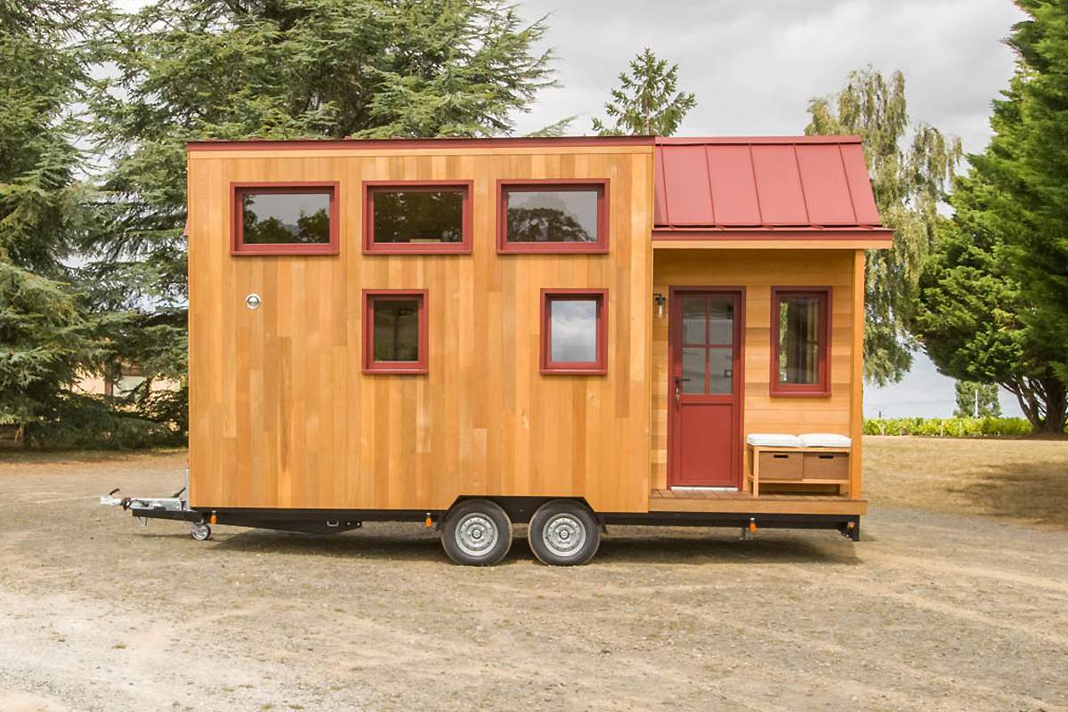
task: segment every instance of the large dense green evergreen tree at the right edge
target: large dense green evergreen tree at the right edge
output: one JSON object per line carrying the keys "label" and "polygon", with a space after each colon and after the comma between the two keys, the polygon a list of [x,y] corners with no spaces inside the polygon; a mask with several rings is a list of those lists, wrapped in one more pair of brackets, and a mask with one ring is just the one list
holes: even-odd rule
{"label": "large dense green evergreen tree at the right edge", "polygon": [[1068,420],[1068,7],[1021,1],[1018,70],[925,269],[917,330],[943,373],[996,381],[1036,431]]}

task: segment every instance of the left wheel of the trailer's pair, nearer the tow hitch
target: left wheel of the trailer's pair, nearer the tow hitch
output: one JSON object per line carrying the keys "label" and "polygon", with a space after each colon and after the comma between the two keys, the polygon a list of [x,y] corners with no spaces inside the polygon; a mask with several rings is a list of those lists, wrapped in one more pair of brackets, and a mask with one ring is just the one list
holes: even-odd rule
{"label": "left wheel of the trailer's pair, nearer the tow hitch", "polygon": [[461,566],[492,566],[512,549],[512,520],[489,500],[465,500],[445,516],[441,545]]}

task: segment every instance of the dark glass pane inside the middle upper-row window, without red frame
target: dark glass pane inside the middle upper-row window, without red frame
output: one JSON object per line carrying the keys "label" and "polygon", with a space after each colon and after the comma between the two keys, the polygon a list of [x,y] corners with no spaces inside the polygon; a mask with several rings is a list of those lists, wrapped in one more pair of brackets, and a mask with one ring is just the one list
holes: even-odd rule
{"label": "dark glass pane inside the middle upper-row window, without red frame", "polygon": [[375,243],[464,240],[462,190],[375,190],[372,195]]}

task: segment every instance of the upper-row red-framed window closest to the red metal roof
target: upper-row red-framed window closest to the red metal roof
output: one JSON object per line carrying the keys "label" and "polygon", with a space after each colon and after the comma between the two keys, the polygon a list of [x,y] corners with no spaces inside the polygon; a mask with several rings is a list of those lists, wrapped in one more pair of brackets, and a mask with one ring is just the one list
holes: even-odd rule
{"label": "upper-row red-framed window closest to the red metal roof", "polygon": [[498,252],[608,252],[608,180],[498,181]]}

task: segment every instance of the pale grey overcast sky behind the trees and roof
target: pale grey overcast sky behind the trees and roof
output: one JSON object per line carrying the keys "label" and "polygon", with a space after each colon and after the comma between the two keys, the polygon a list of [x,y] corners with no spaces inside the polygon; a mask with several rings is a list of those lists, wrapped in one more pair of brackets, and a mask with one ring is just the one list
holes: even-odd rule
{"label": "pale grey overcast sky behind the trees and roof", "polygon": [[[572,132],[588,132],[616,76],[647,46],[678,63],[680,89],[697,95],[682,136],[801,133],[808,99],[870,64],[900,69],[912,120],[959,136],[971,153],[986,145],[990,101],[1012,74],[1001,41],[1023,18],[1009,0],[527,0],[521,12],[548,15],[561,86],[519,118],[519,133],[572,114]],[[1021,414],[1002,395],[1005,413]],[[953,409],[953,381],[923,353],[902,383],[869,386],[864,402],[868,416]]]}

